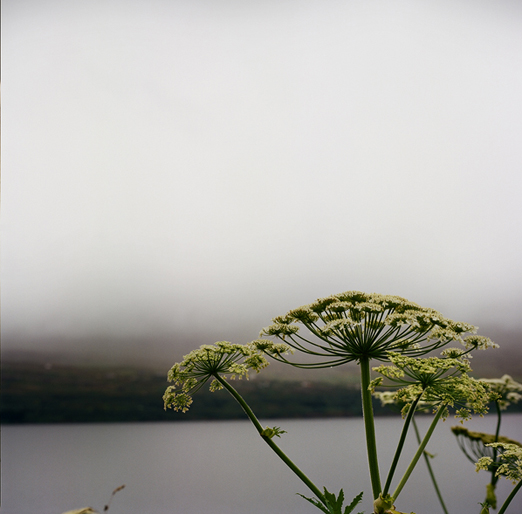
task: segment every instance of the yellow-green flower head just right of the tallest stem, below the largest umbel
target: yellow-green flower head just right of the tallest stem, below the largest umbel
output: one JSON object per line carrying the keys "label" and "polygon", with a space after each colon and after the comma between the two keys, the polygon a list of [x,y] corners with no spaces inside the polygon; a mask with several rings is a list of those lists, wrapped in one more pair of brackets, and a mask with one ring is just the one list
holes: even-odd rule
{"label": "yellow-green flower head just right of the tallest stem, below the largest umbel", "polygon": [[[467,360],[413,358],[396,352],[389,352],[388,358],[392,365],[382,365],[374,370],[401,387],[393,400],[404,406],[403,414],[418,398],[422,398],[424,406],[443,406],[446,409],[443,417],[448,416],[447,407],[455,406],[460,407],[456,416],[461,419],[469,419],[471,410],[481,415],[487,412],[491,400],[489,387],[468,375],[471,368]],[[381,383],[382,378],[376,379],[372,387]]]}

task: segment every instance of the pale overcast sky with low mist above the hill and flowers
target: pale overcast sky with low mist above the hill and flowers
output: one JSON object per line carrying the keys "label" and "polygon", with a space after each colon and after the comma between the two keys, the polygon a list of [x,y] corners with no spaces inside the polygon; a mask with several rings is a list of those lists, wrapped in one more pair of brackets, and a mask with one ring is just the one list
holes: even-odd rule
{"label": "pale overcast sky with low mist above the hill and flowers", "polygon": [[2,22],[4,350],[247,342],[351,289],[522,331],[521,2],[4,0]]}

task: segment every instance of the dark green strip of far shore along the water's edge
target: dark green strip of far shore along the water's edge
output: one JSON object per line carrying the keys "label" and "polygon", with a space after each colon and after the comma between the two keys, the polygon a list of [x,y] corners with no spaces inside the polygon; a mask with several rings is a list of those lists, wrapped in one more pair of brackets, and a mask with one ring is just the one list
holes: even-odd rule
{"label": "dark green strip of far shore along the water's edge", "polygon": [[[165,411],[165,374],[135,368],[80,367],[2,362],[2,424],[99,423],[244,419],[225,391],[203,387],[185,413]],[[305,380],[236,381],[259,418],[361,416],[353,383]],[[522,412],[514,405],[511,412]],[[518,407],[518,408],[517,408]],[[374,402],[377,416],[394,414]]]}

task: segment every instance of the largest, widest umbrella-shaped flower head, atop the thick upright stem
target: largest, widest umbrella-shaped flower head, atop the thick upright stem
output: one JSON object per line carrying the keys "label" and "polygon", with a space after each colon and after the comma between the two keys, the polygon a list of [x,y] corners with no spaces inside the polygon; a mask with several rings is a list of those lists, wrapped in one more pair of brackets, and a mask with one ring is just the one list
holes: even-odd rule
{"label": "largest, widest umbrella-shaped flower head, atop the thick upright stem", "polygon": [[[321,298],[274,318],[261,337],[276,337],[294,350],[321,358],[293,363],[303,368],[338,366],[361,359],[388,360],[388,352],[425,355],[451,342],[468,351],[495,346],[474,335],[476,327],[445,318],[399,296],[347,291]],[[302,330],[302,329],[305,330]]]}

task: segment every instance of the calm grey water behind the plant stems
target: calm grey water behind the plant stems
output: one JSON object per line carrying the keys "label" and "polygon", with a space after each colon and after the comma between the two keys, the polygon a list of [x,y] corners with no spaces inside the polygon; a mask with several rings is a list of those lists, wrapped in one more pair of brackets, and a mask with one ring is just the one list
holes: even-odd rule
{"label": "calm grey water behind the plant stems", "polygon": [[[342,487],[349,499],[364,491],[366,501],[355,512],[372,511],[362,419],[264,424],[274,423],[288,432],[277,442],[318,486],[335,492]],[[376,423],[385,475],[402,422],[378,418]],[[421,430],[427,424],[420,418]],[[440,423],[428,450],[437,454],[433,466],[450,514],[478,514],[488,475],[477,474],[461,454],[450,432],[454,424],[452,419]],[[492,432],[495,418],[466,426]],[[522,415],[505,415],[502,432],[522,440]],[[411,441],[398,473],[414,446]],[[397,508],[441,513],[428,480],[421,461]],[[85,506],[102,512],[122,484],[126,488],[114,497],[110,514],[319,513],[295,494],[311,496],[248,421],[2,427],[2,514],[61,514]],[[511,487],[502,479],[499,498]],[[522,498],[514,503],[509,514],[520,514]]]}

